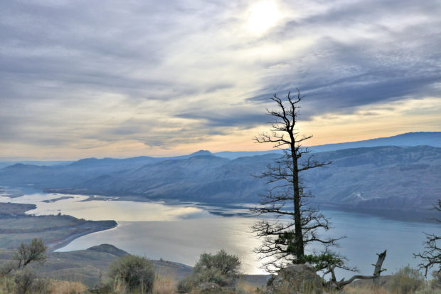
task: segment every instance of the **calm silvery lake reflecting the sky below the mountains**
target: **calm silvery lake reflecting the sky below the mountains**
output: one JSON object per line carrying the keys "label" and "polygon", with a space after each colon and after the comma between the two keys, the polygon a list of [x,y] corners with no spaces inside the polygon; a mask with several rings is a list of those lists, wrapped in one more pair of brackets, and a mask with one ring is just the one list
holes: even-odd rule
{"label": "calm silvery lake reflecting the sky below the mountains", "polygon": [[[203,252],[215,253],[224,248],[240,256],[244,273],[265,273],[253,253],[260,244],[250,232],[257,220],[246,214],[245,209],[225,209],[201,206],[196,203],[165,203],[161,201],[134,202],[116,201],[95,196],[66,195],[26,192],[25,195],[9,198],[0,196],[1,202],[36,204],[28,214],[68,214],[77,218],[95,221],[113,219],[118,226],[107,231],[91,233],[75,239],[58,251],[73,251],[89,248],[101,243],[110,243],[129,253],[148,258],[164,258],[193,266]],[[55,201],[47,201],[47,200]],[[46,201],[46,202],[45,202]],[[377,216],[350,212],[322,210],[331,217],[334,229],[327,234],[332,237],[346,236],[337,248],[349,258],[351,266],[357,266],[362,274],[371,275],[376,262],[376,253],[388,250],[386,274],[418,260],[412,253],[423,249],[427,233],[441,234],[438,224],[405,222],[383,219]],[[233,216],[223,216],[228,214]],[[339,277],[351,273],[339,272]]]}

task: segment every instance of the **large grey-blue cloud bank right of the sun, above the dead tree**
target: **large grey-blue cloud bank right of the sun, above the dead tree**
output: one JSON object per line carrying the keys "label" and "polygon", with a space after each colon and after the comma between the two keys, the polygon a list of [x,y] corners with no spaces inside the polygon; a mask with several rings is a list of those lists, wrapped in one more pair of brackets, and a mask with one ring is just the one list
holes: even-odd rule
{"label": "large grey-blue cloud bank right of the sun, above the dead tree", "polygon": [[[441,6],[436,1],[351,1],[329,7],[278,28],[284,42],[313,31],[310,53],[267,80],[251,100],[262,100],[293,85],[316,105],[309,112],[354,110],[354,107],[408,97],[439,95],[441,78]],[[275,86],[276,85],[276,86]]]}

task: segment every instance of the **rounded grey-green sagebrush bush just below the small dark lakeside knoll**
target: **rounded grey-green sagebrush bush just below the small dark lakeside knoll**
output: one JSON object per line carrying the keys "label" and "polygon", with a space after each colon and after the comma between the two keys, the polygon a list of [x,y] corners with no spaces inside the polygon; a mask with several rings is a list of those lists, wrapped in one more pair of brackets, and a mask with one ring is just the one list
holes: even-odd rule
{"label": "rounded grey-green sagebrush bush just below the small dark lakeside knoll", "polygon": [[108,275],[112,283],[122,284],[127,290],[152,293],[154,268],[148,258],[122,256],[110,265]]}

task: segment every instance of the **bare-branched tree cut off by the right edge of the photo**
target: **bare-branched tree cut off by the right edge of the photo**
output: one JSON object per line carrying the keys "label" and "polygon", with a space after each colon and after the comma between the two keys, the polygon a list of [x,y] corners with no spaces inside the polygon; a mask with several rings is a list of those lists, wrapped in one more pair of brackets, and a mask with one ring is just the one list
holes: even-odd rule
{"label": "bare-branched tree cut off by the right edge of the photo", "polygon": [[[441,211],[441,199],[433,206],[433,209]],[[440,219],[435,218],[435,221],[441,223]],[[422,260],[418,268],[424,268],[425,277],[427,278],[427,271],[433,266],[438,266],[437,272],[441,273],[441,247],[437,244],[437,241],[441,240],[441,236],[437,236],[434,233],[425,233],[425,235],[425,250],[420,253],[414,253],[413,256]]]}

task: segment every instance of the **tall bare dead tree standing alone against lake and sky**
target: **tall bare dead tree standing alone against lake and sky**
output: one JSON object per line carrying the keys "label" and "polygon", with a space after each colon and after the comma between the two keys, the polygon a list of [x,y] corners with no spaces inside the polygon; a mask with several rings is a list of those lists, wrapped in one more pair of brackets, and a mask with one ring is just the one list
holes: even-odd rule
{"label": "tall bare dead tree standing alone against lake and sky", "polygon": [[[319,229],[330,229],[329,219],[319,209],[309,206],[307,199],[313,196],[307,193],[300,177],[302,172],[331,163],[318,162],[307,147],[302,147],[302,142],[312,137],[300,136],[297,131],[302,96],[297,89],[295,96],[288,93],[282,99],[274,95],[270,100],[277,105],[277,110],[267,109],[273,119],[272,129],[255,137],[255,141],[272,143],[273,147],[283,150],[283,156],[257,176],[266,179],[270,189],[261,195],[260,206],[251,210],[257,215],[275,216],[274,221],[262,219],[253,226],[257,236],[263,238],[262,246],[255,252],[264,261],[263,268],[273,273],[289,263],[305,263],[308,257],[310,259],[311,256],[305,255],[308,244],[321,243],[328,248],[336,245],[338,239],[319,236]],[[335,262],[332,256],[330,261],[343,266],[341,260]]]}

